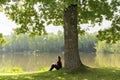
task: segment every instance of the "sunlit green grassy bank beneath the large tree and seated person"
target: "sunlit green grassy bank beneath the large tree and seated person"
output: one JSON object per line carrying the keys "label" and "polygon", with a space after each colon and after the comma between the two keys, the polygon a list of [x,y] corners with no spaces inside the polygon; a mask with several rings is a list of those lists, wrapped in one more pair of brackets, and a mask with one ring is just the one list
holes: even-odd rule
{"label": "sunlit green grassy bank beneath the large tree and seated person", "polygon": [[46,71],[0,75],[0,80],[120,80],[120,69],[90,68],[85,71]]}

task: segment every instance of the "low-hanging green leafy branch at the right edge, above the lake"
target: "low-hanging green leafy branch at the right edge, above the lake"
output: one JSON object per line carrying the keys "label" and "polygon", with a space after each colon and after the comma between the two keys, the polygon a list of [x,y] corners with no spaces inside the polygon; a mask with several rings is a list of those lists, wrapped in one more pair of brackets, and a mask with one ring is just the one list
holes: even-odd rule
{"label": "low-hanging green leafy branch at the right edge, above the lake", "polygon": [[99,31],[99,40],[106,40],[107,43],[116,43],[120,40],[120,14],[116,14],[109,29]]}

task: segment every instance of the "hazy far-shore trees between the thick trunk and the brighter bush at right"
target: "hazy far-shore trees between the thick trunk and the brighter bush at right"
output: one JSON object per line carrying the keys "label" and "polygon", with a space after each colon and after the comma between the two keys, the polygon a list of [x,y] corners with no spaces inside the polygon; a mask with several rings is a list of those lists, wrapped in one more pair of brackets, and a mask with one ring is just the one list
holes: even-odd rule
{"label": "hazy far-shore trees between the thick trunk and the brighter bush at right", "polygon": [[78,46],[79,52],[83,53],[95,53],[95,46],[98,44],[98,39],[96,38],[96,34],[84,34],[79,35]]}

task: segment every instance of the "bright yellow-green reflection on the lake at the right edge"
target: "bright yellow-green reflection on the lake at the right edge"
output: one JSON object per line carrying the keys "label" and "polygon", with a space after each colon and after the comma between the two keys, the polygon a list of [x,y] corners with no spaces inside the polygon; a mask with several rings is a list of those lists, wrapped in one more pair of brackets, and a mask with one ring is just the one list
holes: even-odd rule
{"label": "bright yellow-green reflection on the lake at the right edge", "polygon": [[120,54],[102,54],[96,56],[96,63],[99,67],[120,68]]}

